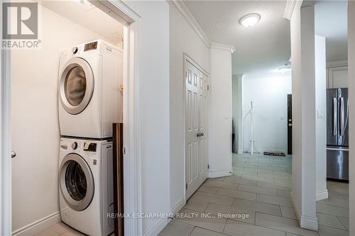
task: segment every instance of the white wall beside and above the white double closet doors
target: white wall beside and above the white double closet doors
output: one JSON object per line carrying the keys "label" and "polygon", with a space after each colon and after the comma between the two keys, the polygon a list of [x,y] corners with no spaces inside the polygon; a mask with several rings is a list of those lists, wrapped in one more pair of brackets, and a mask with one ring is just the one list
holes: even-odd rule
{"label": "white wall beside and above the white double closet doors", "polygon": [[170,209],[184,198],[184,60],[187,53],[209,72],[209,49],[170,4]]}

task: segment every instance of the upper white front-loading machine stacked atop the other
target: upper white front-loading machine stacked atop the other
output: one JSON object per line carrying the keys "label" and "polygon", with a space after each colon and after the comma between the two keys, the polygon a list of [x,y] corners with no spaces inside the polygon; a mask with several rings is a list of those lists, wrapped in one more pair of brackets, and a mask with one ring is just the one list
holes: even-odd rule
{"label": "upper white front-loading machine stacked atop the other", "polygon": [[62,52],[58,84],[60,135],[112,137],[122,122],[123,52],[103,40]]}

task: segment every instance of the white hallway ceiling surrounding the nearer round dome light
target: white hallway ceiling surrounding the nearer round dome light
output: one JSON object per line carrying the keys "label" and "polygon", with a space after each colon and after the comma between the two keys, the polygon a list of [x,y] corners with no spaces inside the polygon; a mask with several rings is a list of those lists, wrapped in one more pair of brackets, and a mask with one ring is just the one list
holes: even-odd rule
{"label": "white hallway ceiling surrounding the nearer round dome light", "polygon": [[[209,40],[233,45],[233,74],[269,74],[290,59],[290,22],[286,1],[184,1]],[[261,20],[244,28],[239,19],[258,13]]]}

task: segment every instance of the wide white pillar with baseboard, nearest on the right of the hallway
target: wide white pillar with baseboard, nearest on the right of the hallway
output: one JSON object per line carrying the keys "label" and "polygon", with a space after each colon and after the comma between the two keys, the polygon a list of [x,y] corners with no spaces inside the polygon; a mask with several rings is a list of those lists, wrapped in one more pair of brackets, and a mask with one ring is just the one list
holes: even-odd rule
{"label": "wide white pillar with baseboard, nearest on the right of the hallway", "polygon": [[[315,214],[315,12],[297,2],[291,23],[293,189],[300,226],[317,230]],[[312,180],[312,181],[311,181]]]}

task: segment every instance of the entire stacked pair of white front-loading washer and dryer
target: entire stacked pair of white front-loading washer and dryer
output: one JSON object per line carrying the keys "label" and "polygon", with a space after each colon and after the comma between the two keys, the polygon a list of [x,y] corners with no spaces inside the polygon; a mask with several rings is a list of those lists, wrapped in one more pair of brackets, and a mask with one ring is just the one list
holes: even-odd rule
{"label": "entire stacked pair of white front-loading washer and dryer", "polygon": [[104,40],[60,57],[60,215],[87,235],[114,231],[112,123],[122,122],[123,52]]}

